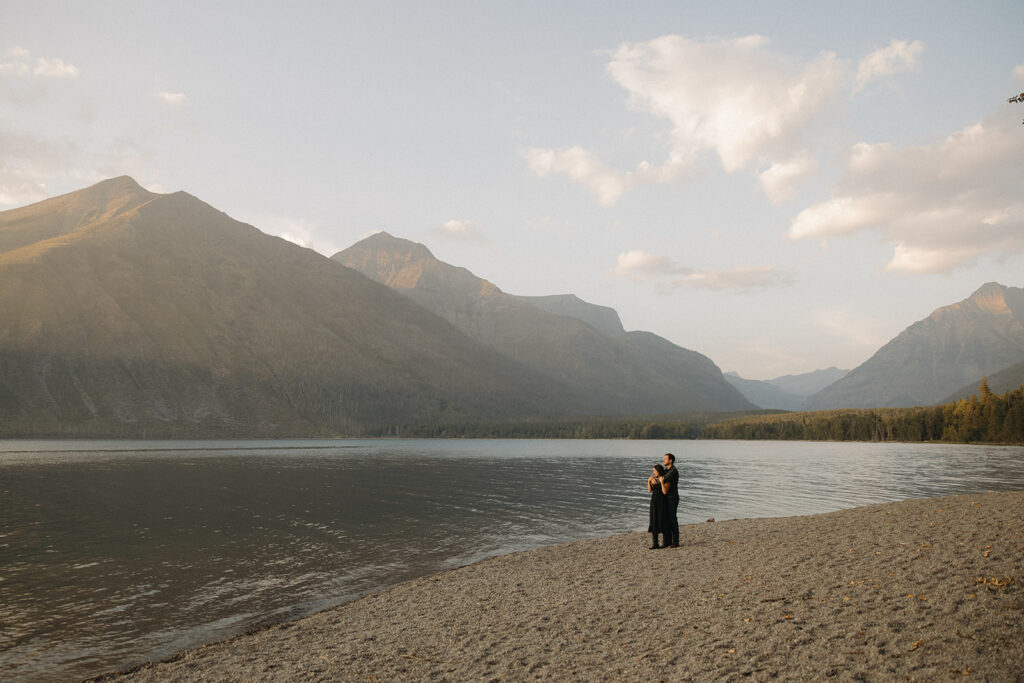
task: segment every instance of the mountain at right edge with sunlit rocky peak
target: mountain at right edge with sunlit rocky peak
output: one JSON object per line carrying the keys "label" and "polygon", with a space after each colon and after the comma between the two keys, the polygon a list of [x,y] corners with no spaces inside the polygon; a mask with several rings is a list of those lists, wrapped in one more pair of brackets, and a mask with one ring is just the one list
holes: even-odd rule
{"label": "mountain at right edge with sunlit rocky peak", "polygon": [[931,405],[1024,361],[1024,289],[988,283],[901,332],[806,410]]}

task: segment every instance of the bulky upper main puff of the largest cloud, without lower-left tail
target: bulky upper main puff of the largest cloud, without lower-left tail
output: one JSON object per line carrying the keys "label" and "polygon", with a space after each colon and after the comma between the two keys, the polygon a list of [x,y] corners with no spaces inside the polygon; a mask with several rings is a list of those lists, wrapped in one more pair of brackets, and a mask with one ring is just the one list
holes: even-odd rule
{"label": "bulky upper main puff of the largest cloud, without lower-left tail", "polygon": [[762,156],[792,157],[803,130],[849,82],[834,53],[799,63],[761,36],[626,44],[607,70],[634,109],[671,124],[671,163],[712,150],[728,172]]}

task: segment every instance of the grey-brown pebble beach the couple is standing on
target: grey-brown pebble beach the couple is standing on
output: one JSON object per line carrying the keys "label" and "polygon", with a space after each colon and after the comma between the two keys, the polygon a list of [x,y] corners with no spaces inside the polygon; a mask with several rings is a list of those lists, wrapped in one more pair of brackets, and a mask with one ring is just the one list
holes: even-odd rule
{"label": "grey-brown pebble beach the couple is standing on", "polygon": [[1024,492],[680,537],[496,557],[103,678],[1024,680]]}

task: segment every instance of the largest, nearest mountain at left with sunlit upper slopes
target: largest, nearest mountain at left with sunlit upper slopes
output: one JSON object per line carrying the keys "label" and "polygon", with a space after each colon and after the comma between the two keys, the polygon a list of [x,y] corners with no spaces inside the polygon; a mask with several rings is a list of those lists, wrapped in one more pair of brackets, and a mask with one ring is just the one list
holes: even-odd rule
{"label": "largest, nearest mountain at left with sunlit upper slopes", "polygon": [[579,411],[335,260],[122,177],[0,212],[0,433],[358,434]]}

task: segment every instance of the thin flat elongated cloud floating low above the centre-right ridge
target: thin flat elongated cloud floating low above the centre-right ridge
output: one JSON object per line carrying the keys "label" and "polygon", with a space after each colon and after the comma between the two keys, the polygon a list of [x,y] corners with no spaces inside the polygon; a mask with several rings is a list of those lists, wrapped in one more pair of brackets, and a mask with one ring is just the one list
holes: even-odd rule
{"label": "thin flat elongated cloud floating low above the centre-right ridge", "polygon": [[788,273],[778,270],[773,265],[695,270],[675,263],[668,256],[644,251],[620,254],[612,272],[635,282],[653,282],[671,289],[687,287],[717,291],[746,291],[788,285],[793,282]]}

